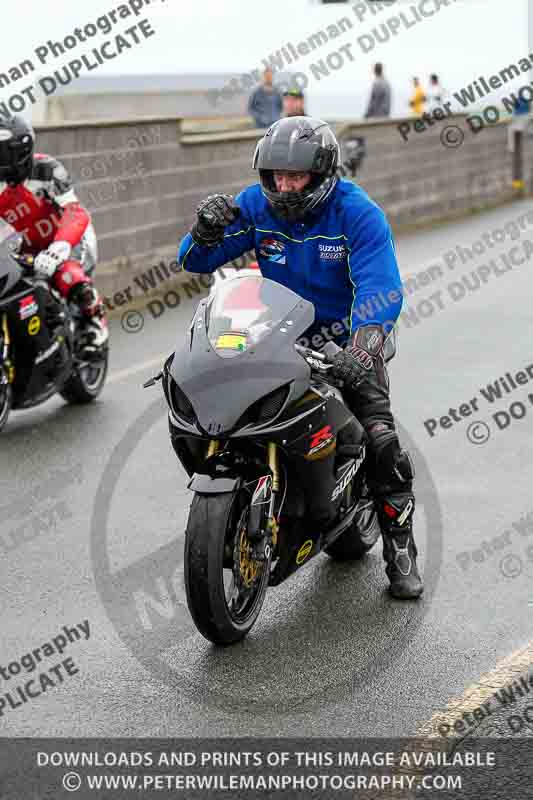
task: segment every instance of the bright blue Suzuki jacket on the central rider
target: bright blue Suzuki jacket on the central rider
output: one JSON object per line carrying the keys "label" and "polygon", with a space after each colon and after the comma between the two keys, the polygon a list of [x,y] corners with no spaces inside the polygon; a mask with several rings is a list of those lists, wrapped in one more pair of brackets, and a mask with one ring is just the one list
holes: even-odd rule
{"label": "bright blue Suzuki jacket on the central rider", "polygon": [[385,214],[359,186],[339,180],[318,213],[298,223],[276,217],[259,184],[235,202],[241,215],[219,245],[201,247],[185,236],[178,253],[183,269],[213,272],[255,249],[265,278],[314,304],[314,330],[331,332],[333,325],[328,339],[342,344],[369,324],[390,331],[403,299],[394,243]]}

